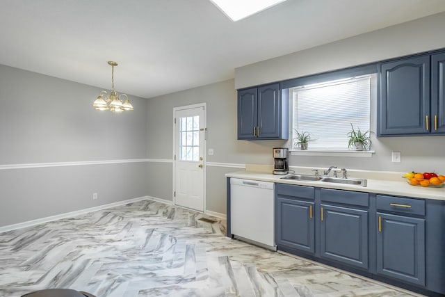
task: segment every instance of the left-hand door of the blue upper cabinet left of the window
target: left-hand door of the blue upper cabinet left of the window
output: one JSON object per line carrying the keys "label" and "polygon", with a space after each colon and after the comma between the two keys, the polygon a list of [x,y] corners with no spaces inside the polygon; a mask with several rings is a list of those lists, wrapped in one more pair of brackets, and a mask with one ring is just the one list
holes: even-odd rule
{"label": "left-hand door of the blue upper cabinet left of the window", "polygon": [[238,91],[238,139],[257,138],[257,88]]}

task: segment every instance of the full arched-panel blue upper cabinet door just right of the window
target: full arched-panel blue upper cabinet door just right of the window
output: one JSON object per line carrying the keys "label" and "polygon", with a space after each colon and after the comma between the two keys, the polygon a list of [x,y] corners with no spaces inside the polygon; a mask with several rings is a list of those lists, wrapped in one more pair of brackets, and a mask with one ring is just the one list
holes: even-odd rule
{"label": "full arched-panel blue upper cabinet door just right of the window", "polygon": [[430,133],[430,56],[382,63],[378,113],[379,136]]}

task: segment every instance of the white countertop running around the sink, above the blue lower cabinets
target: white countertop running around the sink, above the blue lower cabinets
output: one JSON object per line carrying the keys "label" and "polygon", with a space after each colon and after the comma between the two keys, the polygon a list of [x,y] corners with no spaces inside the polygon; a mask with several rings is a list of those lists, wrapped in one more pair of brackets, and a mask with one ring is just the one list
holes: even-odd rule
{"label": "white countertop running around the sink, above the blue lower cabinets", "polygon": [[[307,168],[291,168],[296,174],[308,174]],[[270,172],[270,173],[269,173]],[[309,171],[310,172],[310,171]],[[323,173],[323,171],[321,171]],[[264,182],[277,182],[281,184],[298,184],[301,186],[317,186],[319,188],[337,188],[341,190],[380,193],[385,195],[398,195],[414,198],[425,198],[445,201],[445,187],[424,187],[412,186],[402,177],[401,172],[366,172],[355,170],[349,172],[348,177],[366,178],[366,175],[372,178],[368,179],[368,186],[357,186],[349,184],[332,184],[327,182],[308,182],[301,180],[281,179],[284,175],[273,175],[270,166],[247,166],[246,170],[227,173],[226,177],[240,179],[253,179]],[[312,173],[309,173],[313,175]],[[375,179],[376,176],[382,176],[385,179]]]}

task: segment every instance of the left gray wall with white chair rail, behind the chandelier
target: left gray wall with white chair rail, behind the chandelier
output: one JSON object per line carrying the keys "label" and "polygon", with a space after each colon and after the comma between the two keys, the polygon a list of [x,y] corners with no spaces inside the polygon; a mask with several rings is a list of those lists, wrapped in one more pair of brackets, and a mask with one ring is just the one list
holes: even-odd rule
{"label": "left gray wall with white chair rail, behind the chandelier", "polygon": [[147,195],[145,162],[4,169],[146,158],[147,100],[100,113],[91,106],[99,91],[0,65],[0,226]]}

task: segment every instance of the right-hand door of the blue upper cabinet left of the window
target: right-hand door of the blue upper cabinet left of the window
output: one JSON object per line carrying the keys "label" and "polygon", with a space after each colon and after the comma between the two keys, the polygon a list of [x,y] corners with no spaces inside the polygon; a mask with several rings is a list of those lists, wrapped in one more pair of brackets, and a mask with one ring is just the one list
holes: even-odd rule
{"label": "right-hand door of the blue upper cabinet left of the window", "polygon": [[280,138],[281,98],[280,85],[258,88],[259,138]]}

